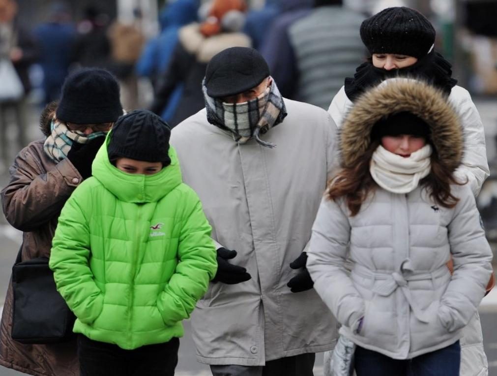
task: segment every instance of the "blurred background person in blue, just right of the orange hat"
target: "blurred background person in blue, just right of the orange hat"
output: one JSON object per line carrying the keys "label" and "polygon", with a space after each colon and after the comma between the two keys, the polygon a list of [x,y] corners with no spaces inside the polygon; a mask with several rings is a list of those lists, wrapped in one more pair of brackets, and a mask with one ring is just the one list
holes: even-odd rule
{"label": "blurred background person in blue, just right of the orange hat", "polygon": [[281,12],[280,2],[284,0],[266,0],[262,8],[248,11],[244,32],[252,39],[253,48],[260,49],[272,22]]}

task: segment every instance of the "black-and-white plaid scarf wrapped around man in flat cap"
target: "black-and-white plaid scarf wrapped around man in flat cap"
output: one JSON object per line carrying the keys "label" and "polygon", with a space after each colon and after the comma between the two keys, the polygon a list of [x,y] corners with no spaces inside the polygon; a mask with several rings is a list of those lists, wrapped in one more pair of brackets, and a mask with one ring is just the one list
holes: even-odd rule
{"label": "black-and-white plaid scarf wrapped around man in flat cap", "polygon": [[262,146],[276,146],[259,138],[259,134],[281,123],[287,115],[283,97],[274,80],[263,94],[244,103],[224,103],[221,99],[210,97],[207,95],[205,80],[202,89],[209,123],[230,131],[240,144],[245,144],[253,137]]}

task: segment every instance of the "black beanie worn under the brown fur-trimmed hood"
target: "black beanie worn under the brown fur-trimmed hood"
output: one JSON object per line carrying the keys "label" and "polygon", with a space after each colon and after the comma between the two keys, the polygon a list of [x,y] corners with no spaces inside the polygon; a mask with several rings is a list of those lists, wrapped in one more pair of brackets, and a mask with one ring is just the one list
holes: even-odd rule
{"label": "black beanie worn under the brown fur-trimmed hood", "polygon": [[420,117],[412,112],[397,112],[376,122],[371,132],[371,139],[376,140],[384,136],[398,136],[409,134],[416,137],[430,139],[430,127]]}

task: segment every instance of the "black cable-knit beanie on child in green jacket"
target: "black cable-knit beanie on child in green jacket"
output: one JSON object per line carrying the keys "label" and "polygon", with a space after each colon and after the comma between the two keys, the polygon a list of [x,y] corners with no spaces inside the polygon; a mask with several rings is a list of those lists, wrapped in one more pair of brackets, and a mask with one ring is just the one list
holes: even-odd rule
{"label": "black cable-knit beanie on child in green jacket", "polygon": [[167,123],[155,113],[134,110],[121,116],[110,133],[107,146],[109,161],[119,157],[137,161],[162,162],[163,168],[170,165]]}

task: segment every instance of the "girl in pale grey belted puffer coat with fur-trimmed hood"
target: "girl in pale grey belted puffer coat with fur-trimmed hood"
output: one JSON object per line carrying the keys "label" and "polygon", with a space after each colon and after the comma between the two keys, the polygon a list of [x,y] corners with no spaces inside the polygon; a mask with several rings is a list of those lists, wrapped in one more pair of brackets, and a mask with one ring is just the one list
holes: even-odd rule
{"label": "girl in pale grey belted puffer coat with fur-trimmed hood", "polygon": [[471,188],[454,176],[464,149],[455,110],[430,85],[387,80],[358,98],[340,143],[307,268],[356,344],[357,376],[458,376],[492,252]]}

